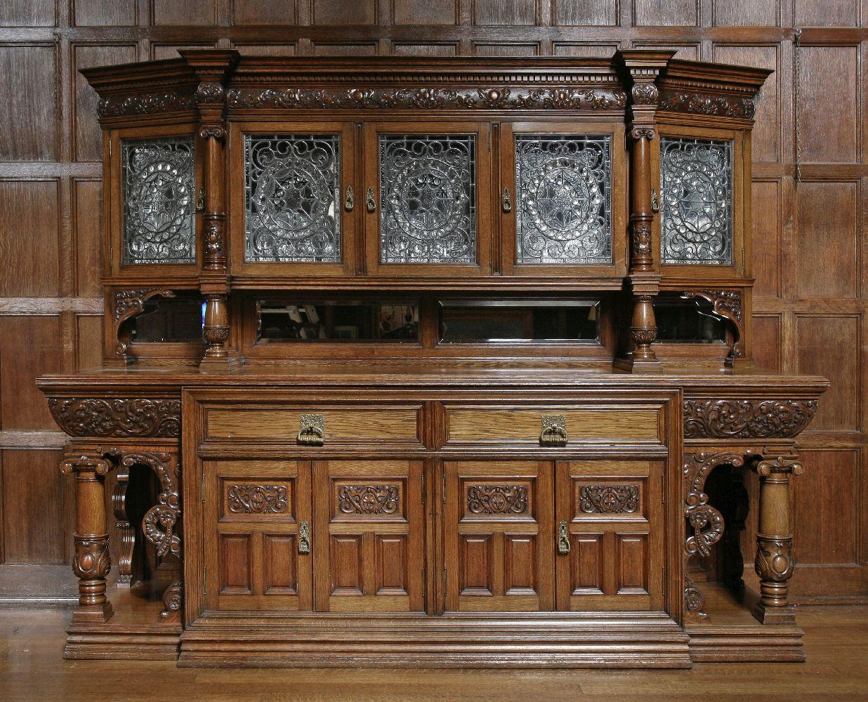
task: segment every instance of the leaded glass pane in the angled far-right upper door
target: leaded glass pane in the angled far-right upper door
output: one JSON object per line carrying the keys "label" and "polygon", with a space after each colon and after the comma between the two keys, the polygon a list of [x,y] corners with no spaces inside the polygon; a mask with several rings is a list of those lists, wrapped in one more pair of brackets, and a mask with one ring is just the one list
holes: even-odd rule
{"label": "leaded glass pane in the angled far-right upper door", "polygon": [[733,142],[663,137],[661,263],[733,262]]}

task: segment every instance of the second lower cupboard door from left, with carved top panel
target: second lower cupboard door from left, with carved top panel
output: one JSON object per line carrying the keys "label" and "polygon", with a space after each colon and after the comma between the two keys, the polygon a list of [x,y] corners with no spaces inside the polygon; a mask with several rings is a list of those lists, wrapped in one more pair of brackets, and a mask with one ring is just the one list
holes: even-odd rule
{"label": "second lower cupboard door from left, with carved top panel", "polygon": [[313,463],[318,612],[421,612],[421,461]]}

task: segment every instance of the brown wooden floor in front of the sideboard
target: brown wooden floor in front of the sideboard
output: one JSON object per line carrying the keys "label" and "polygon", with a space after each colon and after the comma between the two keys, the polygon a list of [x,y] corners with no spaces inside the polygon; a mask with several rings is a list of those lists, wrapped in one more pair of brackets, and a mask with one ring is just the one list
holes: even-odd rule
{"label": "brown wooden floor in front of the sideboard", "polygon": [[195,670],[65,661],[69,610],[0,609],[0,700],[868,700],[868,607],[799,607],[807,663],[688,671]]}

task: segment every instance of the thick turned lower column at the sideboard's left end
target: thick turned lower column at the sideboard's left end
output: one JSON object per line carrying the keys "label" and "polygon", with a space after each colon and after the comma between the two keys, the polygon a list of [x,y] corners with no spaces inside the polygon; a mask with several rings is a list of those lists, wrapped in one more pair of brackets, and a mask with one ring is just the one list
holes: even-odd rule
{"label": "thick turned lower column at the sideboard's left end", "polygon": [[76,474],[76,555],[72,569],[79,580],[73,621],[108,621],[114,613],[106,597],[111,556],[103,477],[110,469],[99,447],[70,452],[61,463],[62,473]]}

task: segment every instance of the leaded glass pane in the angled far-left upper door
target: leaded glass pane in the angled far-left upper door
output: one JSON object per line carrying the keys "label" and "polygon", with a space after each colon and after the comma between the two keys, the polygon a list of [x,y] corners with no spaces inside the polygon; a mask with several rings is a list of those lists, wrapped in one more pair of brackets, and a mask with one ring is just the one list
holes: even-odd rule
{"label": "leaded glass pane in the angled far-left upper door", "polygon": [[123,263],[195,263],[192,137],[122,141]]}

